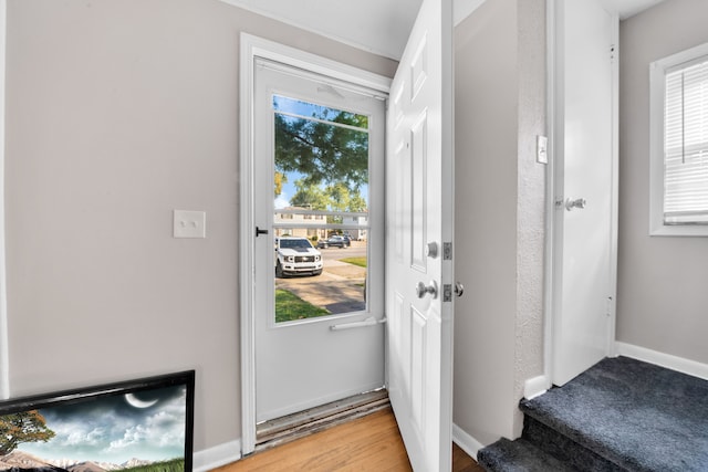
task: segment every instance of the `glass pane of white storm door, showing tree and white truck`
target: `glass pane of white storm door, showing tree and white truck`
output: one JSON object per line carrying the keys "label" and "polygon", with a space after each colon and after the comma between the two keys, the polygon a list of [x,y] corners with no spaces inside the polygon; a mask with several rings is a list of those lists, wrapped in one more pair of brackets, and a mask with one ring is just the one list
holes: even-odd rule
{"label": "glass pane of white storm door, showing tree and white truck", "polygon": [[368,117],[274,95],[275,322],[366,310]]}

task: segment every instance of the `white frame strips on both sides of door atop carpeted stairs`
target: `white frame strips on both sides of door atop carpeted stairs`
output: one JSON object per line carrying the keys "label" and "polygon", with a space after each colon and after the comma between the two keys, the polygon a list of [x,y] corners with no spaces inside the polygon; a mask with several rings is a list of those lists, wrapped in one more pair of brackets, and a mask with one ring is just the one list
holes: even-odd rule
{"label": "white frame strips on both sides of door atop carpeted stairs", "polygon": [[[556,244],[562,241],[555,240],[556,234],[556,210],[555,202],[563,196],[555,195],[558,182],[563,178],[563,175],[555,166],[555,158],[559,155],[556,148],[563,144],[563,126],[562,122],[563,113],[562,107],[564,103],[559,97],[558,86],[563,80],[562,71],[564,67],[563,57],[558,54],[559,38],[558,32],[558,11],[559,2],[565,0],[546,0],[546,129],[548,129],[548,156],[549,162],[546,166],[546,210],[545,210],[545,260],[544,260],[544,347],[543,347],[543,365],[545,386],[542,389],[551,387],[552,373],[553,373],[553,336],[554,336],[554,318],[559,316],[555,313],[555,306],[558,297],[561,293],[556,290],[556,274],[553,270],[556,262],[555,251]],[[613,25],[613,42],[615,44],[615,59],[612,64],[612,242],[610,248],[610,283],[611,286],[616,286],[617,281],[617,214],[618,214],[618,99],[620,99],[620,60],[618,60],[618,41],[620,30],[618,21],[615,19]],[[608,306],[611,313],[611,322],[608,323],[607,337],[606,337],[606,353],[612,357],[616,355],[615,347],[615,319],[616,319],[616,297]],[[541,387],[541,386],[537,386]],[[539,391],[531,392],[539,394]]]}

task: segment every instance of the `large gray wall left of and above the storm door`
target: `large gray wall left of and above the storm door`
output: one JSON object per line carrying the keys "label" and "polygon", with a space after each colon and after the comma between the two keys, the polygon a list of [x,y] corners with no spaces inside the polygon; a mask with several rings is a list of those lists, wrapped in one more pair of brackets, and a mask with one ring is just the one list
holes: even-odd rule
{"label": "large gray wall left of and above the storm door", "polygon": [[396,65],[216,0],[8,1],[12,396],[195,368],[195,449],[240,437],[241,31]]}

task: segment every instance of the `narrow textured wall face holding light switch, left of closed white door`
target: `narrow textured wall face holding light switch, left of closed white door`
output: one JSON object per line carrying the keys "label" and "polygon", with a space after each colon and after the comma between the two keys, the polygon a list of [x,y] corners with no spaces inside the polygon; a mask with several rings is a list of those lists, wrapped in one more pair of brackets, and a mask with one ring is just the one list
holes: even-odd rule
{"label": "narrow textured wall face holding light switch, left of closed white door", "polygon": [[[538,135],[545,135],[545,1],[520,0],[519,156],[517,196],[517,326],[514,397],[524,382],[544,373],[543,287],[545,254],[545,172],[535,160]],[[523,417],[517,410],[514,429]]]}

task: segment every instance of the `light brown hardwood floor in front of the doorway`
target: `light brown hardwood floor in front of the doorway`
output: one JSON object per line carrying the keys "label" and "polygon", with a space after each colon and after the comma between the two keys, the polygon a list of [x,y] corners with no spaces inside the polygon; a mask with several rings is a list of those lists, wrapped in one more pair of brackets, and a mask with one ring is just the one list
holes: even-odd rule
{"label": "light brown hardwood floor in front of the doorway", "polygon": [[[410,471],[391,408],[241,459],[214,472]],[[452,444],[454,472],[483,472]]]}

